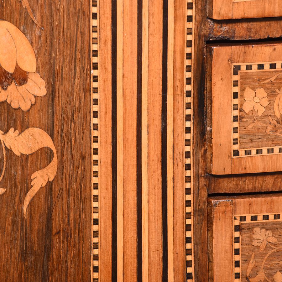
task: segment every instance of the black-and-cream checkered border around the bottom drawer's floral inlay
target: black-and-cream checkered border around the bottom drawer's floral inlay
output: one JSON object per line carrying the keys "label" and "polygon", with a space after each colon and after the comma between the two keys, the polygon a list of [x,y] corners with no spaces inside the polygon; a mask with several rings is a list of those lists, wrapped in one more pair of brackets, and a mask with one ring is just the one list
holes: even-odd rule
{"label": "black-and-cream checkered border around the bottom drawer's floral inlay", "polygon": [[234,236],[233,236],[233,246],[234,246],[234,281],[241,281],[241,234],[240,234],[240,224],[246,222],[263,222],[263,221],[276,221],[282,220],[282,213],[268,213],[259,215],[235,215],[234,216]]}

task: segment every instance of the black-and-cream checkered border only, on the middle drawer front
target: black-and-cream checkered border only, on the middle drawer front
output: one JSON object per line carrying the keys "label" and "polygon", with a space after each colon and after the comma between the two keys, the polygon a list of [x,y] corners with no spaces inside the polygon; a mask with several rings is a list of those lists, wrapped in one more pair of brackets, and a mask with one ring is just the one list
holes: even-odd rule
{"label": "black-and-cream checkered border only, on the middle drawer front", "polygon": [[239,148],[239,131],[238,119],[240,111],[240,97],[239,97],[239,71],[240,70],[270,70],[281,69],[281,62],[269,63],[250,63],[246,65],[234,64],[232,65],[232,157],[243,157],[253,155],[267,155],[282,153],[282,147],[256,148],[256,149],[240,149]]}

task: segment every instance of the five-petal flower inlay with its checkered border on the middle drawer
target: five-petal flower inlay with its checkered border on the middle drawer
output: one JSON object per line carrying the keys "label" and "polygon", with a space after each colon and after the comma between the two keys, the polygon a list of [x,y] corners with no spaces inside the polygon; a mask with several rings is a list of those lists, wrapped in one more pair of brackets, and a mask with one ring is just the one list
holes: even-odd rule
{"label": "five-petal flower inlay with its checkered border on the middle drawer", "polygon": [[233,157],[282,153],[281,62],[233,64]]}

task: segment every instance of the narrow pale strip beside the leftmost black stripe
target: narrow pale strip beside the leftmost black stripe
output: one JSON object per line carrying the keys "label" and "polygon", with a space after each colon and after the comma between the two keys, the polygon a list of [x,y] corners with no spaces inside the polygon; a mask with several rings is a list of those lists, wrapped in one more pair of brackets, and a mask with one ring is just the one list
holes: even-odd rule
{"label": "narrow pale strip beside the leftmost black stripe", "polygon": [[123,281],[123,0],[117,1],[117,281]]}

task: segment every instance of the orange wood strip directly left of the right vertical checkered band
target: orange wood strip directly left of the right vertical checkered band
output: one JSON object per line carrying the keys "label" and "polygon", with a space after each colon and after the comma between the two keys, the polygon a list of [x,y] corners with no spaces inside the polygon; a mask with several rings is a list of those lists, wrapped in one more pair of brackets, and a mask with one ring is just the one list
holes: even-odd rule
{"label": "orange wood strip directly left of the right vertical checkered band", "polygon": [[[181,0],[174,4],[174,73],[173,73],[173,163],[174,163],[174,279],[185,276],[185,146],[190,143],[185,138],[185,55],[186,55],[186,14],[187,6]],[[188,61],[189,62],[189,61]],[[190,62],[191,64],[191,62]],[[189,121],[189,118],[188,120]],[[185,144],[184,144],[185,140]],[[187,148],[188,149],[188,148]],[[189,173],[188,173],[189,176]],[[187,230],[189,231],[189,230]],[[181,235],[182,236],[181,236]]]}

